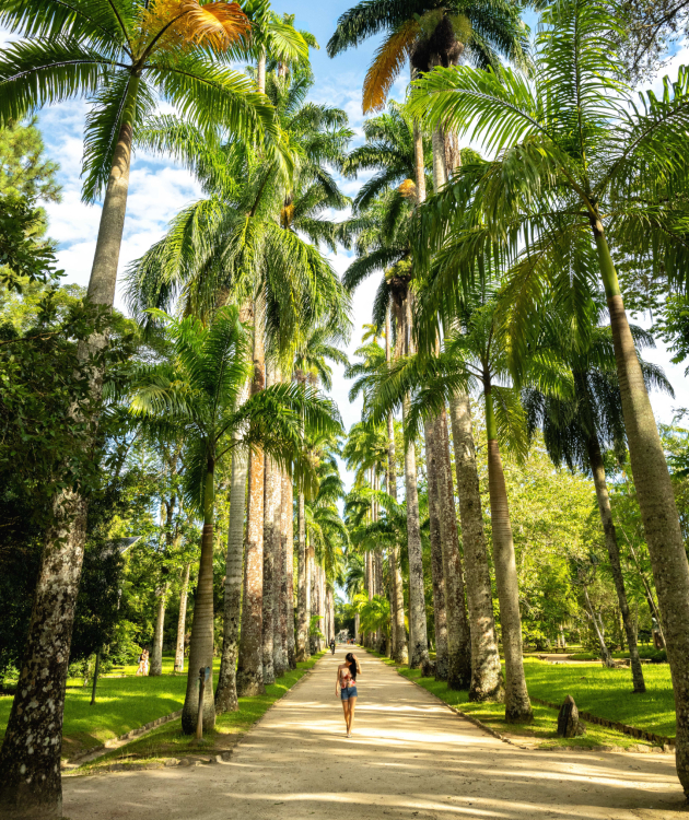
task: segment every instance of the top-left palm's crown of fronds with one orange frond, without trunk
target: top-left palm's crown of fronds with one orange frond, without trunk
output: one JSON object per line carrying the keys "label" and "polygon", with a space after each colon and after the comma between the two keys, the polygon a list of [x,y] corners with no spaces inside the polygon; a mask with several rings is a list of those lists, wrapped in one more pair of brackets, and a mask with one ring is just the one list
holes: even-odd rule
{"label": "top-left palm's crown of fronds with one orange frond, without trunk", "polygon": [[122,124],[132,144],[156,99],[212,132],[226,129],[289,165],[269,101],[231,69],[250,42],[236,3],[198,0],[7,0],[0,25],[23,39],[0,54],[0,121],[85,97],[83,199],[104,194]]}

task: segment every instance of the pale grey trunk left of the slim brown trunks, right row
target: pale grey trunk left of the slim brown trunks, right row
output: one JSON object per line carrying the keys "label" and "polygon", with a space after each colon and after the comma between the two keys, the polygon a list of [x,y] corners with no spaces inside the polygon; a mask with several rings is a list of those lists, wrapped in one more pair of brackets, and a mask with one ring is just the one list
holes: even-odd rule
{"label": "pale grey trunk left of the slim brown trunks, right row", "polygon": [[[413,352],[411,342],[411,294],[405,304],[405,340],[407,354]],[[409,396],[402,401],[402,421],[409,415]],[[423,558],[419,523],[419,489],[417,484],[417,454],[413,442],[405,446],[405,484],[407,489],[407,551],[409,553],[409,668],[418,669],[429,657],[423,585]]]}

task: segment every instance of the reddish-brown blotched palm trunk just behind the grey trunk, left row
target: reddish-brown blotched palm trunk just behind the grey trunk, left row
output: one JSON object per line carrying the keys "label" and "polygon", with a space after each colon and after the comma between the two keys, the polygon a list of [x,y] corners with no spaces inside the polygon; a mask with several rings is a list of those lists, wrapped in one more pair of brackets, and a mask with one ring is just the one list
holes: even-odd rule
{"label": "reddish-brown blotched palm trunk just behind the grey trunk, left row", "polygon": [[[262,333],[262,305],[254,303],[254,379],[252,395],[266,384]],[[264,454],[253,449],[249,456],[246,553],[244,557],[244,597],[237,666],[237,694],[262,694],[262,596],[264,596]]]}

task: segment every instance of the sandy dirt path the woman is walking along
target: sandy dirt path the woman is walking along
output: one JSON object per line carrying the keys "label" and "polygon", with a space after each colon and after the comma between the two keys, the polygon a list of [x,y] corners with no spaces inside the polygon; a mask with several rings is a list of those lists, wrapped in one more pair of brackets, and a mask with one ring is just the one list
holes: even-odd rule
{"label": "sandy dirt path the woman is walking along", "polygon": [[227,763],[72,777],[70,820],[674,820],[669,755],[522,751],[362,653],[347,740],[327,655]]}

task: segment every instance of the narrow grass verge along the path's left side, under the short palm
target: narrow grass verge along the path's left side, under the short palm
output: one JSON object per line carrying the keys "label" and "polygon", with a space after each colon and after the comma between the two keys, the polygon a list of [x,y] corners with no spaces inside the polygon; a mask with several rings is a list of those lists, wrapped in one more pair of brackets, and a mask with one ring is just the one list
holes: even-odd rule
{"label": "narrow grass verge along the path's left side, under the short palm", "polygon": [[[172,721],[153,729],[145,737],[107,752],[91,763],[85,763],[77,774],[91,774],[109,769],[113,764],[136,768],[141,764],[160,763],[170,758],[194,758],[218,754],[232,749],[240,738],[259,721],[276,701],[279,701],[297,680],[312,669],[325,653],[313,655],[307,661],[297,664],[275,683],[266,687],[266,694],[256,698],[240,698],[238,712],[225,712],[218,716],[215,728],[207,731],[199,746],[194,737],[182,734],[182,721]],[[183,693],[184,698],[184,693]]]}

